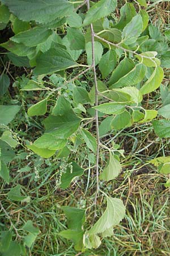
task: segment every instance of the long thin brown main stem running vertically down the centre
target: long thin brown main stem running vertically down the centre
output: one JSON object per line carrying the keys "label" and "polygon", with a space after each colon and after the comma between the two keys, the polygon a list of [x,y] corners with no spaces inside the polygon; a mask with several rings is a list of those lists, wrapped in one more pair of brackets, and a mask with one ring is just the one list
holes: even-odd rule
{"label": "long thin brown main stem running vertically down the centre", "polygon": [[[90,9],[90,1],[87,0],[87,9]],[[94,71],[94,80],[95,80],[95,106],[98,106],[98,88],[97,88],[97,76],[95,68],[95,32],[92,23],[90,24],[91,28],[91,40],[92,40],[92,69]],[[96,150],[96,194],[95,194],[95,216],[96,217],[96,205],[97,205],[97,195],[99,193],[99,120],[98,120],[98,111],[95,110],[95,119],[96,119],[96,139],[97,139],[97,150]]]}

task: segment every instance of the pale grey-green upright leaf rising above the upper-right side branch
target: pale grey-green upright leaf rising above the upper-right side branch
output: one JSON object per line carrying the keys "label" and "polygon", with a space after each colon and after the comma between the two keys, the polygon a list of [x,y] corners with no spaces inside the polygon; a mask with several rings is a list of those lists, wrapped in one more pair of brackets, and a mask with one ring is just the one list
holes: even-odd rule
{"label": "pale grey-green upright leaf rising above the upper-right side branch", "polygon": [[122,31],[122,40],[125,44],[134,43],[143,30],[142,16],[135,15]]}

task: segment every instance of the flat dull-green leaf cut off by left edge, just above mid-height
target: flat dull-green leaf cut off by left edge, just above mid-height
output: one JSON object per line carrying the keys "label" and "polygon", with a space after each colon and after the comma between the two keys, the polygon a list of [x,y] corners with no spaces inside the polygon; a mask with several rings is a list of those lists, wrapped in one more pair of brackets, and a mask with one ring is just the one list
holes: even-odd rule
{"label": "flat dull-green leaf cut off by left edge, just above mid-height", "polygon": [[0,123],[8,125],[19,110],[20,106],[17,105],[0,105]]}

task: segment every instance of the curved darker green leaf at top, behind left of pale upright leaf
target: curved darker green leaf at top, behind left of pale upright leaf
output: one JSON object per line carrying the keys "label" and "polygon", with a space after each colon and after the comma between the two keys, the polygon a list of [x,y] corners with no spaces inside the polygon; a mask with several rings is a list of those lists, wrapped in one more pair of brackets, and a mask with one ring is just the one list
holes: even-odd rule
{"label": "curved darker green leaf at top, behind left of pale upright leaf", "polygon": [[114,27],[122,30],[135,15],[136,10],[133,3],[125,3],[120,10],[120,20],[114,25]]}

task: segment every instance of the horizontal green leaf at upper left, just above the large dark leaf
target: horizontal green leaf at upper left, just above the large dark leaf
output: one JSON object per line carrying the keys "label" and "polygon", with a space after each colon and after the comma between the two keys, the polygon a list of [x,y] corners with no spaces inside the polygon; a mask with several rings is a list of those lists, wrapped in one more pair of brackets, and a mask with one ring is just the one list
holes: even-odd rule
{"label": "horizontal green leaf at upper left, just above the large dark leaf", "polygon": [[34,27],[32,30],[20,32],[12,36],[10,40],[15,43],[21,43],[28,47],[37,46],[37,44],[45,42],[52,35],[52,30],[47,30],[44,27]]}

